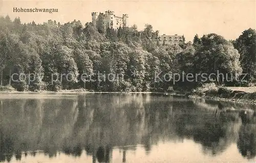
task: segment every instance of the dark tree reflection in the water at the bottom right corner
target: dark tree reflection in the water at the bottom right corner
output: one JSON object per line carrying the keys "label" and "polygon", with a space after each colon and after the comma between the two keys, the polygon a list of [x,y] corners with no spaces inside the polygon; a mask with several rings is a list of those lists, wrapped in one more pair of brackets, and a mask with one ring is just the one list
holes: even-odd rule
{"label": "dark tree reflection in the water at the bottom right corner", "polygon": [[254,158],[256,156],[255,124],[246,124],[241,126],[237,146],[242,156],[246,158]]}

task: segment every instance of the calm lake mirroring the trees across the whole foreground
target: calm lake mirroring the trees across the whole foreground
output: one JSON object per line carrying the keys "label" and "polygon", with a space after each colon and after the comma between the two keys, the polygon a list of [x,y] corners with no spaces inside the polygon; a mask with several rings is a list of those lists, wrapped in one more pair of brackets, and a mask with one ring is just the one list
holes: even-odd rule
{"label": "calm lake mirroring the trees across the whole foreground", "polygon": [[150,94],[0,94],[0,162],[255,162],[254,105]]}

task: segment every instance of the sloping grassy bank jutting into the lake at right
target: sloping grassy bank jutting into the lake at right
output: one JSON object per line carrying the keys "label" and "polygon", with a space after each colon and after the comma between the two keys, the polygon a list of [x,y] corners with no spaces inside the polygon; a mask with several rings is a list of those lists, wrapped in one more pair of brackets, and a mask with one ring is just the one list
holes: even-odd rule
{"label": "sloping grassy bank jutting into the lake at right", "polygon": [[218,101],[256,103],[256,92],[234,90],[228,87],[216,87],[212,84],[206,84],[202,87],[194,89],[187,96],[189,98],[204,98]]}

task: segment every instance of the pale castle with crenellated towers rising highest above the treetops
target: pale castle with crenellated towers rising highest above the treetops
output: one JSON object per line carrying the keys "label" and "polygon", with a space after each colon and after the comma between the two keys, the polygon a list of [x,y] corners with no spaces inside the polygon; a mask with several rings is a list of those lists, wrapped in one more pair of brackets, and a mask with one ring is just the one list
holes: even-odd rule
{"label": "pale castle with crenellated towers rising highest above the treetops", "polygon": [[92,23],[94,26],[96,26],[96,21],[98,20],[98,17],[101,16],[103,18],[102,25],[104,29],[107,28],[110,29],[118,29],[119,27],[128,27],[127,26],[127,19],[128,15],[123,14],[123,16],[116,16],[114,14],[114,11],[105,11],[104,13],[98,13],[98,12],[92,12]]}

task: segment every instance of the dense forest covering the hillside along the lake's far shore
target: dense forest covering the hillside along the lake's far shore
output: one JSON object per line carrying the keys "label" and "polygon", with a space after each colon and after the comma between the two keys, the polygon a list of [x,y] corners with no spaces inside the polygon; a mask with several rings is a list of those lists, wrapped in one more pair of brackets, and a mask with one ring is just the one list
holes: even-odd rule
{"label": "dense forest covering the hillside along the lake's far shore", "polygon": [[[85,88],[90,91],[159,91],[169,87],[186,89],[203,82],[170,80],[155,81],[155,73],[247,73],[245,85],[256,77],[256,31],[241,31],[236,40],[210,33],[194,41],[179,44],[160,44],[152,39],[153,27],[145,25],[138,31],[136,25],[118,30],[102,30],[91,22],[80,21],[61,25],[55,20],[44,24],[34,21],[22,24],[19,18],[0,17],[0,71],[1,86],[12,86],[18,91],[58,91]],[[97,80],[98,72],[121,74],[123,78]],[[136,75],[134,73],[136,72]],[[13,80],[13,74],[17,74]],[[26,80],[18,78],[26,74]],[[37,76],[32,76],[36,74]],[[76,80],[52,80],[52,74],[71,74]],[[81,74],[92,75],[83,82]],[[28,83],[28,76],[31,82]],[[239,76],[236,76],[239,78]],[[102,76],[102,78],[104,78]],[[222,80],[216,85],[236,85]],[[12,80],[11,80],[12,79]],[[224,81],[224,82],[223,82]],[[206,81],[207,82],[207,81]],[[209,82],[209,81],[208,81]]]}

